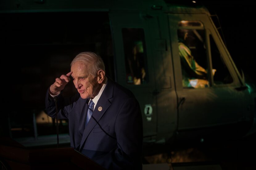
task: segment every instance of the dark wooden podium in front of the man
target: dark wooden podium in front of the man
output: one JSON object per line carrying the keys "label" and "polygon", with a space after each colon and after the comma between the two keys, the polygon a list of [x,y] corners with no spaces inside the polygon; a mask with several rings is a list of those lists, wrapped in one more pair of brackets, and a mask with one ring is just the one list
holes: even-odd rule
{"label": "dark wooden podium in front of the man", "polygon": [[74,148],[27,149],[11,138],[0,138],[0,169],[105,170]]}

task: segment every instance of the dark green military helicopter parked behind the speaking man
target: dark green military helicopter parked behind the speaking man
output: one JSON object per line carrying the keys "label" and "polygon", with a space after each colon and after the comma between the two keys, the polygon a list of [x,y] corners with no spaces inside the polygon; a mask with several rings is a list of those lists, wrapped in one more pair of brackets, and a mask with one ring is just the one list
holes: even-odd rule
{"label": "dark green military helicopter parked behind the speaking man", "polygon": [[[26,57],[14,64],[26,73],[24,81],[43,79],[33,79],[28,94],[28,83],[13,85],[23,87],[24,109],[42,108],[45,91],[34,92],[47,89],[52,73],[68,73],[77,53],[93,51],[107,75],[139,101],[145,146],[244,136],[253,126],[255,93],[204,6],[164,0],[1,3],[6,54],[16,49]],[[74,92],[72,85],[64,90]]]}

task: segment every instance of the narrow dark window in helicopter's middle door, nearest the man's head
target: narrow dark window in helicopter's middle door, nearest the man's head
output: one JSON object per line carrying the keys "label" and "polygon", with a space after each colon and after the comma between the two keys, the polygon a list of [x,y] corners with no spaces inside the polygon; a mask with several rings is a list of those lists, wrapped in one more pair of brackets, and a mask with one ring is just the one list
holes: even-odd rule
{"label": "narrow dark window in helicopter's middle door, nearest the man's head", "polygon": [[122,28],[126,83],[141,85],[148,82],[147,55],[144,30],[142,28]]}

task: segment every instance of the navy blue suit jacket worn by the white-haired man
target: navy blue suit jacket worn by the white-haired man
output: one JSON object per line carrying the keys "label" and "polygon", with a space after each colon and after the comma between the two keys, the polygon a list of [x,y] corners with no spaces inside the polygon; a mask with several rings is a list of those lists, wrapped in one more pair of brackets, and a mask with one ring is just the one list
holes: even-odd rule
{"label": "navy blue suit jacket worn by the white-haired man", "polygon": [[[130,90],[109,78],[86,127],[89,98],[77,93],[69,98],[60,94],[57,99],[58,118],[69,120],[71,147],[107,169],[142,169],[142,115]],[[48,92],[46,110],[56,117]]]}

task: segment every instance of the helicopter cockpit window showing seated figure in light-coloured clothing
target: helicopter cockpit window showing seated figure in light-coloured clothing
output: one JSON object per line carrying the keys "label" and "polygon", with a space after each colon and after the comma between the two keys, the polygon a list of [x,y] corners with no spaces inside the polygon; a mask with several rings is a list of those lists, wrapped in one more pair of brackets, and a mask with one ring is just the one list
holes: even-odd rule
{"label": "helicopter cockpit window showing seated figure in light-coloured clothing", "polygon": [[199,21],[180,21],[178,26],[178,47],[183,87],[209,87],[203,24]]}

